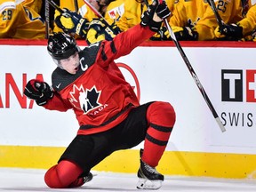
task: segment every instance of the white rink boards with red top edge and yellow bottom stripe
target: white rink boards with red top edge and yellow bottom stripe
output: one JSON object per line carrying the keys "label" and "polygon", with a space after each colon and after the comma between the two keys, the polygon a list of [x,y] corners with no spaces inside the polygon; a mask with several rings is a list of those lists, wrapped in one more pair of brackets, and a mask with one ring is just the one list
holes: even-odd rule
{"label": "white rink boards with red top edge and yellow bottom stripe", "polygon": [[[78,44],[84,47],[83,41]],[[0,167],[48,169],[76,135],[72,111],[45,110],[23,95],[31,78],[51,83],[56,66],[45,45],[44,40],[0,40]],[[227,132],[220,131],[173,43],[141,44],[116,62],[140,103],[166,100],[176,110],[177,123],[157,170],[167,175],[255,178],[255,43],[181,45]],[[142,147],[115,152],[93,170],[137,172]]]}

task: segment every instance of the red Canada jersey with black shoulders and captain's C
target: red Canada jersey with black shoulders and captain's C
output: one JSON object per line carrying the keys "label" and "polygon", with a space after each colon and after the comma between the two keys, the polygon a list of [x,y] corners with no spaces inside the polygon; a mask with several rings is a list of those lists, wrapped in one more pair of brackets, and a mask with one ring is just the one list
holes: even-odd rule
{"label": "red Canada jersey with black shoulders and captain's C", "polygon": [[140,25],[79,52],[76,75],[56,68],[52,73],[54,97],[44,108],[67,111],[72,108],[80,125],[78,134],[104,132],[121,123],[131,108],[139,106],[132,86],[124,80],[114,60],[129,54],[153,36]]}

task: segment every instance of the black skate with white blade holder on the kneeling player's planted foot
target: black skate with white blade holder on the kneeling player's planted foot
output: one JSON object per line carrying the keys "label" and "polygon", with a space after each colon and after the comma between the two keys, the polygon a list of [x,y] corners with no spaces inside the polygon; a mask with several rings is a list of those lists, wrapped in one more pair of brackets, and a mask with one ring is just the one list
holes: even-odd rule
{"label": "black skate with white blade holder on the kneeling player's planted foot", "polygon": [[139,177],[137,188],[139,189],[158,189],[161,188],[164,181],[164,175],[157,172],[155,167],[141,161],[141,159],[137,175]]}

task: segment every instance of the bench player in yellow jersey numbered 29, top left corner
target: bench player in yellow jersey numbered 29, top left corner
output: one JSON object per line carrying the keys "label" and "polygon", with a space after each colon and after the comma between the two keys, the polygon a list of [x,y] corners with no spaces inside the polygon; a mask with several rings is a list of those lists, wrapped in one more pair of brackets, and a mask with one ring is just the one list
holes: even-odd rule
{"label": "bench player in yellow jersey numbered 29, top left corner", "polygon": [[0,38],[44,39],[44,20],[31,7],[42,2],[32,0],[0,1]]}

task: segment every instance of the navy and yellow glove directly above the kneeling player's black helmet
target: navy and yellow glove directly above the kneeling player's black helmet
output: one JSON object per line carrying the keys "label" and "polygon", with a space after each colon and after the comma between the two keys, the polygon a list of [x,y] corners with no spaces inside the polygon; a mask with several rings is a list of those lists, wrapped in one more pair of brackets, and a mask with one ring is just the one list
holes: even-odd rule
{"label": "navy and yellow glove directly above the kneeling player's black helmet", "polygon": [[86,19],[76,12],[70,12],[64,8],[64,13],[55,18],[56,25],[65,33],[76,33],[76,35],[84,38],[88,30],[89,23]]}

